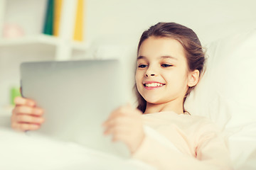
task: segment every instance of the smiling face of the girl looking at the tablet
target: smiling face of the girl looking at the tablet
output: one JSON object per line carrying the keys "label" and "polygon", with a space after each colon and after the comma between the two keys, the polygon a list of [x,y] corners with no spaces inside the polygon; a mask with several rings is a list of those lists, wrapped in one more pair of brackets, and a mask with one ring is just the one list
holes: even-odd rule
{"label": "smiling face of the girl looking at the tablet", "polygon": [[139,48],[136,84],[147,103],[183,101],[189,84],[183,46],[172,38],[149,37]]}

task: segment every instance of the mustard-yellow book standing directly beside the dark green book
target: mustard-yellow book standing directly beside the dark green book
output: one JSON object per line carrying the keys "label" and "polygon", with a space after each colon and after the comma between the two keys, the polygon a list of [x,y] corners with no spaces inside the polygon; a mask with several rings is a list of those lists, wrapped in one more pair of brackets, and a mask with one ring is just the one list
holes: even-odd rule
{"label": "mustard-yellow book standing directly beside the dark green book", "polygon": [[60,30],[60,16],[63,0],[54,0],[53,35],[58,36]]}

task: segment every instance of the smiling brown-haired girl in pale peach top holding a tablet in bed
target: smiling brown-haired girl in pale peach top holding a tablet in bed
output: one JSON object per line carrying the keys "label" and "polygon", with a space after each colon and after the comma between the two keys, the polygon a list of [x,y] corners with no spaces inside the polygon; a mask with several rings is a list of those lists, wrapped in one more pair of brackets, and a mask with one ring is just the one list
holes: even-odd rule
{"label": "smiling brown-haired girl in pale peach top holding a tablet in bed", "polygon": [[[228,149],[218,128],[183,108],[198,84],[204,64],[201,42],[193,30],[177,23],[157,23],[144,31],[137,49],[139,106],[121,106],[103,123],[105,135],[122,141],[132,157],[157,169],[231,169]],[[16,98],[12,128],[36,130],[43,110]],[[174,147],[149,135],[154,129]]]}

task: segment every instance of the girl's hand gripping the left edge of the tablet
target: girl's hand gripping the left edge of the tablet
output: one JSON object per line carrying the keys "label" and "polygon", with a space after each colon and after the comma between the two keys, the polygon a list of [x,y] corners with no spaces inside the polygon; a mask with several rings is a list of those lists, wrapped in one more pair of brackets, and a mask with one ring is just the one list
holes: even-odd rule
{"label": "girl's hand gripping the left edge of the tablet", "polygon": [[43,109],[36,107],[36,102],[27,98],[16,97],[16,104],[11,115],[11,128],[14,130],[37,130],[44,122]]}

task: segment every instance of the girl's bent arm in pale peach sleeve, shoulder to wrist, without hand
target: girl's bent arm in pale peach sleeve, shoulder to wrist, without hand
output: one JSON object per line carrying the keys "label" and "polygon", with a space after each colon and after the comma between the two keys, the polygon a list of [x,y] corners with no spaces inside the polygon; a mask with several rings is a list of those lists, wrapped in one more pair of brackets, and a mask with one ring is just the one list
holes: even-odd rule
{"label": "girl's bent arm in pale peach sleeve, shoulder to wrist, without hand", "polygon": [[204,132],[200,135],[197,146],[195,158],[166,147],[146,135],[132,157],[158,169],[233,169],[225,141],[218,132]]}

